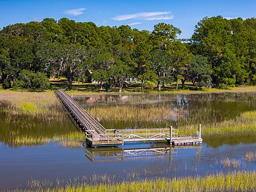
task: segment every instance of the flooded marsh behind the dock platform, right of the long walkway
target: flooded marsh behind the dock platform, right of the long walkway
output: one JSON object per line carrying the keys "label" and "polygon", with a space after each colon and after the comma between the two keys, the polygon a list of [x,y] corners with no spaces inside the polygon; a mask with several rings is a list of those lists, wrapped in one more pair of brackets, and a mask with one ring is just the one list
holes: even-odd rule
{"label": "flooded marsh behind the dock platform, right of the long walkway", "polygon": [[[80,98],[80,99],[79,99]],[[109,95],[78,97],[77,101],[109,129],[169,127],[179,135],[193,135],[198,123],[203,136],[256,133],[254,93],[217,95]],[[121,98],[121,99],[120,99]],[[241,102],[240,102],[241,101]],[[223,110],[221,110],[223,107]],[[245,112],[247,111],[247,112]]]}

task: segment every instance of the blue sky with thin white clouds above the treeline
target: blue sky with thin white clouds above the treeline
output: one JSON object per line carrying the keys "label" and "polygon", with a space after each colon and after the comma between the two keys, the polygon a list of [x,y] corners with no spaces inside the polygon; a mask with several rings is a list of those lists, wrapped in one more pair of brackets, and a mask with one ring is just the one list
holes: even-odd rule
{"label": "blue sky with thin white clouds above the treeline", "polygon": [[256,17],[256,0],[0,0],[0,28],[15,23],[59,20],[92,21],[97,26],[130,25],[153,31],[157,23],[181,29],[180,38],[190,38],[204,17],[227,19]]}

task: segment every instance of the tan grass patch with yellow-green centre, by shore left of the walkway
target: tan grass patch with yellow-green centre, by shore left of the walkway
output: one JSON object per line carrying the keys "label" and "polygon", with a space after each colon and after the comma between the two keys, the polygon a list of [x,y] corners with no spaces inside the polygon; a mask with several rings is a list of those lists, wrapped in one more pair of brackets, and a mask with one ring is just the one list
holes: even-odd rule
{"label": "tan grass patch with yellow-green centre, by shore left of the walkway", "polygon": [[61,121],[63,109],[53,91],[0,90],[0,110],[9,115]]}

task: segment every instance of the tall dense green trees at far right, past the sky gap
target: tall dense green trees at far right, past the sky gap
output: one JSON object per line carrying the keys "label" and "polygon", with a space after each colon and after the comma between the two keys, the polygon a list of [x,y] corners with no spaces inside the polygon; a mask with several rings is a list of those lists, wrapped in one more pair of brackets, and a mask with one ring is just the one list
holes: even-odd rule
{"label": "tall dense green trees at far right, past the sky gap", "polygon": [[192,36],[193,52],[209,57],[213,83],[255,84],[256,19],[204,18]]}

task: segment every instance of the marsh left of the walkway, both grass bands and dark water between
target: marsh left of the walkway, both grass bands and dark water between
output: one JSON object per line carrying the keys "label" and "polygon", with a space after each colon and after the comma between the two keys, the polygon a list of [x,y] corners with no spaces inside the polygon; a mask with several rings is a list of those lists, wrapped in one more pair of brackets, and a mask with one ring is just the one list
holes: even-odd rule
{"label": "marsh left of the walkway, both grass bands and dark water between", "polygon": [[69,122],[67,117],[53,91],[0,90],[0,123],[5,123],[0,139],[6,145],[21,147],[53,141],[63,147],[79,147],[85,134],[69,130],[68,124],[64,125]]}

